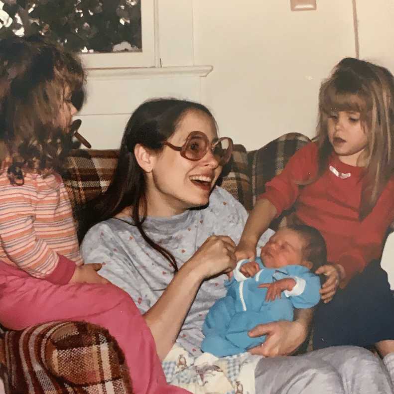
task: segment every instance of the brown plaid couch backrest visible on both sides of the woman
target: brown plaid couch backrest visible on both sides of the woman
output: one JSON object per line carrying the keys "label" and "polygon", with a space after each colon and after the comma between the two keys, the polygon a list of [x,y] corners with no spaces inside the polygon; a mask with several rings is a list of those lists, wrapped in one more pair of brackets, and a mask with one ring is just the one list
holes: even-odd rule
{"label": "brown plaid couch backrest visible on both sides of the woman", "polygon": [[[303,134],[288,133],[250,152],[245,146],[235,144],[232,159],[223,169],[218,184],[251,210],[256,196],[264,192],[265,182],[278,174],[294,152],[308,141],[309,138]],[[74,213],[107,190],[118,156],[119,151],[115,149],[76,149],[71,152],[63,180]]]}

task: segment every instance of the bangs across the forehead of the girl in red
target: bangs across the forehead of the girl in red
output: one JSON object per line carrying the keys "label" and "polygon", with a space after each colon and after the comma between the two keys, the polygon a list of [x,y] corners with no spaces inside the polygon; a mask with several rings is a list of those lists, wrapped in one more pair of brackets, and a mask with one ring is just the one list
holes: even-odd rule
{"label": "bangs across the forehead of the girl in red", "polygon": [[322,93],[320,110],[326,115],[338,111],[359,112],[365,115],[368,111],[368,99],[361,92],[339,90],[331,83]]}

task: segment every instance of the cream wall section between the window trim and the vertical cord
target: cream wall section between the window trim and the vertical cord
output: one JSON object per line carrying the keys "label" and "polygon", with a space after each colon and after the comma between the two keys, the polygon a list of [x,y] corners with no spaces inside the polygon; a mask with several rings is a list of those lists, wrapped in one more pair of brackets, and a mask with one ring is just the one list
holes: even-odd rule
{"label": "cream wall section between the window trim and the vertical cord", "polygon": [[197,63],[212,64],[202,99],[222,134],[249,149],[289,131],[314,135],[322,78],[355,56],[351,0],[193,1]]}

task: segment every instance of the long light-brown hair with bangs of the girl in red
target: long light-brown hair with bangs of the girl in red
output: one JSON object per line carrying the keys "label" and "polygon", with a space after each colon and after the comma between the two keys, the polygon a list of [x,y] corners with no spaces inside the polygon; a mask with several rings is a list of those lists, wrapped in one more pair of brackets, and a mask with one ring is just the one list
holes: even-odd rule
{"label": "long light-brown hair with bangs of the girl in red", "polygon": [[362,154],[365,164],[359,218],[364,219],[394,172],[394,79],[389,70],[354,58],[342,59],[325,80],[319,92],[319,147],[317,177],[328,165],[332,145],[327,120],[333,112],[360,112],[368,138]]}

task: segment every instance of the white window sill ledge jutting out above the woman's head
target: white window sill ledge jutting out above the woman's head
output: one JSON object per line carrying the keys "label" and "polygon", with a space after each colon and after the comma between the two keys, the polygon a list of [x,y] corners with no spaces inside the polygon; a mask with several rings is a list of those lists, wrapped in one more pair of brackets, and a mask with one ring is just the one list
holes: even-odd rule
{"label": "white window sill ledge jutting out above the woman's head", "polygon": [[87,70],[89,80],[122,80],[154,77],[206,77],[213,66],[122,67]]}

